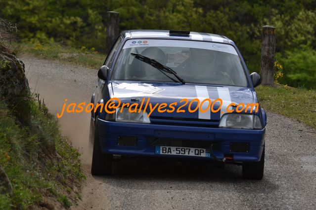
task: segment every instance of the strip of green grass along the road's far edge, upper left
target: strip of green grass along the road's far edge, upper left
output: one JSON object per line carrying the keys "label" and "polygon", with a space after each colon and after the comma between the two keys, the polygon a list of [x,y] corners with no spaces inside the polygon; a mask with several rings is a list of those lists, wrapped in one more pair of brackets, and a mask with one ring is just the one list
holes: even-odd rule
{"label": "strip of green grass along the road's far edge, upper left", "polygon": [[13,43],[13,47],[18,51],[18,54],[33,55],[38,58],[58,60],[75,65],[81,65],[88,68],[98,70],[105,58],[105,54],[101,54],[94,48],[87,49],[86,47],[74,48],[64,46],[58,43]]}

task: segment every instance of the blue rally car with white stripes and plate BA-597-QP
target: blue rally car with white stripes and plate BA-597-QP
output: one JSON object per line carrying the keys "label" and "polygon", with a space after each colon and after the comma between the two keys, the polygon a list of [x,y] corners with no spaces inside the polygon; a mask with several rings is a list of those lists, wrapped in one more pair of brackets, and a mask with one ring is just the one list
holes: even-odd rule
{"label": "blue rally car with white stripes and plate BA-597-QP", "polygon": [[[98,77],[91,103],[117,98],[120,105],[112,113],[91,112],[92,175],[111,174],[113,155],[141,155],[237,164],[244,178],[262,179],[267,119],[254,90],[261,80],[258,73],[249,74],[227,37],[124,31]],[[169,109],[144,108],[148,99]],[[139,111],[124,103],[138,104]],[[241,103],[251,106],[240,112]]]}

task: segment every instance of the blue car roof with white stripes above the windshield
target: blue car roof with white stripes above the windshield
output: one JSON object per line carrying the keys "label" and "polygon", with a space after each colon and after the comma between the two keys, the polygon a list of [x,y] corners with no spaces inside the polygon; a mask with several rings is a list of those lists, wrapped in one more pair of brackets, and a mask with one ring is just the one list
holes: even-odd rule
{"label": "blue car roof with white stripes above the windshield", "polygon": [[163,38],[163,39],[188,39],[199,41],[214,41],[233,43],[232,40],[224,35],[216,35],[201,32],[190,32],[189,35],[170,35],[167,30],[129,30],[121,33],[124,38]]}

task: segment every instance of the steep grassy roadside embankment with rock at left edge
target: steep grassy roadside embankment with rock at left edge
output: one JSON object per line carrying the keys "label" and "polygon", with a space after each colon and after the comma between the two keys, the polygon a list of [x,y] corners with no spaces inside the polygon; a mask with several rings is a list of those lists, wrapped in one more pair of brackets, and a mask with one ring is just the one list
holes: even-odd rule
{"label": "steep grassy roadside embankment with rock at left edge", "polygon": [[79,157],[31,94],[23,62],[0,52],[0,209],[75,205],[85,178]]}

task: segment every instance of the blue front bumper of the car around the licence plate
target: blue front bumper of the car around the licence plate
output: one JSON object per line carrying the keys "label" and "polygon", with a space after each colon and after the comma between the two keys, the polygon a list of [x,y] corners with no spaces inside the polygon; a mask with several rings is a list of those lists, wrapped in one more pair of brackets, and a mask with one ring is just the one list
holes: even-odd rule
{"label": "blue front bumper of the car around the licence plate", "polygon": [[[155,146],[149,143],[150,140],[199,140],[218,142],[218,148],[214,150],[214,155],[218,159],[222,160],[225,156],[230,155],[233,156],[232,162],[258,162],[261,159],[265,144],[265,128],[262,130],[205,128],[112,122],[101,119],[98,119],[97,123],[101,150],[109,154],[162,156],[155,154]],[[129,146],[119,145],[118,138],[122,136],[136,139],[137,143]],[[230,144],[237,142],[248,143],[248,151],[231,151]],[[163,155],[163,157],[168,157],[168,155]],[[179,158],[180,156],[170,155],[170,157]],[[189,158],[196,157],[189,156]],[[198,158],[213,159],[212,156]]]}

